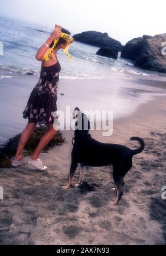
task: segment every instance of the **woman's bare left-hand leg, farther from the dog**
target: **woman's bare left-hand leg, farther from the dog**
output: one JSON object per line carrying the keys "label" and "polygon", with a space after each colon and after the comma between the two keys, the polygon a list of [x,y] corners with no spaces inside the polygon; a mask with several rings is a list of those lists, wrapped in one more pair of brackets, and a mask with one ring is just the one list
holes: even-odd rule
{"label": "woman's bare left-hand leg, farther from the dog", "polygon": [[22,159],[22,152],[23,152],[24,146],[27,143],[27,140],[29,139],[30,135],[34,132],[36,126],[37,126],[37,123],[29,123],[28,121],[27,126],[22,132],[22,135],[20,135],[17,152],[14,156],[15,160]]}

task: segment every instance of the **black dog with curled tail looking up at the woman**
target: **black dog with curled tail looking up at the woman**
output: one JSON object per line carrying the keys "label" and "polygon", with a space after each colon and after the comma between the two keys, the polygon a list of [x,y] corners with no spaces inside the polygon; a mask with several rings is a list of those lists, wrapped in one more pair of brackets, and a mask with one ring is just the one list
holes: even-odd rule
{"label": "black dog with curled tail looking up at the woman", "polygon": [[[132,167],[133,155],[141,153],[144,149],[144,141],[139,137],[131,137],[131,140],[138,140],[141,147],[138,149],[130,149],[125,145],[101,143],[91,138],[89,134],[90,122],[84,113],[80,112],[79,108],[74,109],[75,122],[75,137],[72,152],[71,152],[71,166],[69,173],[69,180],[64,189],[68,189],[71,184],[72,177],[75,174],[78,164],[81,164],[79,184],[84,179],[85,167],[89,166],[103,166],[113,164],[113,180],[116,185],[116,200],[113,204],[117,204],[123,195],[122,187],[125,184],[123,178]],[[80,122],[81,121],[81,122]],[[77,128],[78,122],[81,123],[81,128]],[[85,123],[87,127],[85,129]],[[77,129],[76,129],[77,128]]]}

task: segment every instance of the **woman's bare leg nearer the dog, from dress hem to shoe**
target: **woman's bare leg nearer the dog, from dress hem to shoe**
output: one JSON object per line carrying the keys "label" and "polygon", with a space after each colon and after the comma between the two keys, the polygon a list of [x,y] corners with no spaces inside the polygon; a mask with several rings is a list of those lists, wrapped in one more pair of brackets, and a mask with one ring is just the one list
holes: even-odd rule
{"label": "woman's bare leg nearer the dog, from dress hem to shoe", "polygon": [[39,144],[35,151],[32,154],[32,159],[37,160],[39,158],[40,152],[43,148],[50,142],[50,140],[58,133],[58,130],[55,130],[53,124],[49,124],[48,132],[46,132],[39,141]]}

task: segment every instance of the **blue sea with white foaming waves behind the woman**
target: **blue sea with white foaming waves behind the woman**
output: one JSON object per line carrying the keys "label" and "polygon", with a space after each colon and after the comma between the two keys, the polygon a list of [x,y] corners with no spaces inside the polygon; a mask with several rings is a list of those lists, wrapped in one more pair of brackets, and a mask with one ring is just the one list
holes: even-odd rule
{"label": "blue sea with white foaming waves behind the woman", "polygon": [[[3,43],[0,69],[23,74],[32,72],[35,76],[39,76],[41,62],[35,59],[35,54],[50,36],[53,27],[39,26],[20,19],[0,16],[0,42]],[[71,33],[71,36],[73,35],[74,33]],[[152,74],[152,72],[134,67],[131,61],[120,58],[120,53],[117,60],[98,56],[96,55],[98,49],[98,47],[75,41],[69,48],[72,61],[60,49],[58,51],[62,67],[60,77],[67,79],[131,79],[132,74],[141,76]]]}

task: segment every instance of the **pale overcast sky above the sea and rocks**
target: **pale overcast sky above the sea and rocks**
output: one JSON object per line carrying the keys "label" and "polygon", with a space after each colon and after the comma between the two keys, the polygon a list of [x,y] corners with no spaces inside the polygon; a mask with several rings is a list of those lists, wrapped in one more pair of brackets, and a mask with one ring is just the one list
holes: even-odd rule
{"label": "pale overcast sky above the sea and rocks", "polygon": [[0,14],[53,27],[107,32],[122,44],[149,34],[166,33],[165,0],[1,0]]}

